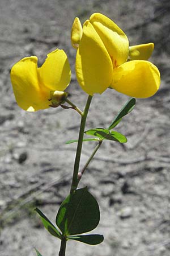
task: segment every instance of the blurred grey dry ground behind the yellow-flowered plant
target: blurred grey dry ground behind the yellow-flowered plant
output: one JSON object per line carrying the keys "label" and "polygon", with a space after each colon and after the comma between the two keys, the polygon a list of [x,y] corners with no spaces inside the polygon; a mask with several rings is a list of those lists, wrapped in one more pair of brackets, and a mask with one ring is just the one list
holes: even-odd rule
{"label": "blurred grey dry ground behind the yellow-flowered plant", "polygon": [[[74,72],[75,49],[70,31],[75,16],[83,23],[100,12],[124,30],[130,45],[155,43],[150,59],[162,76],[152,98],[137,99],[133,112],[116,128],[128,138],[122,146],[103,143],[84,174],[99,201],[101,220],[94,233],[101,245],[67,243],[67,256],[168,256],[170,253],[170,3],[168,0],[1,0],[0,2],[0,254],[58,254],[59,241],[42,227],[33,212],[39,207],[52,222],[69,193],[79,115],[73,110],[24,112],[15,102],[10,82],[12,65],[36,55],[41,65],[53,49],[69,56],[70,100],[80,109],[87,95]],[[90,54],[87,52],[87,55]],[[145,81],[143,81],[145,82]],[[92,100],[86,129],[107,127],[129,97],[106,90]],[[80,166],[95,142],[83,146]]]}

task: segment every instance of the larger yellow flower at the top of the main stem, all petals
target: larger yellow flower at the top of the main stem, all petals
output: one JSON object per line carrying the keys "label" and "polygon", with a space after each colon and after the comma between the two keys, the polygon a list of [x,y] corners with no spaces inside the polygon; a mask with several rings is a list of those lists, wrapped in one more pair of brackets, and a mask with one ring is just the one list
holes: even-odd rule
{"label": "larger yellow flower at the top of the main stem, all petals", "polygon": [[110,87],[131,97],[146,98],[159,89],[159,70],[147,61],[154,44],[129,47],[125,33],[107,16],[92,14],[83,28],[75,18],[71,43],[78,48],[76,77],[86,93],[101,94]]}

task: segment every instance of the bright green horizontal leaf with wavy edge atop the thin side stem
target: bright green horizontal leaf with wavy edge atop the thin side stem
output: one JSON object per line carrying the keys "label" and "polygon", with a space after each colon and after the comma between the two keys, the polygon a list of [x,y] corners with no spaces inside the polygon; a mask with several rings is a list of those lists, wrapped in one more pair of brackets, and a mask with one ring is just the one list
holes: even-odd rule
{"label": "bright green horizontal leaf with wavy edge atop the thin side stem", "polygon": [[122,135],[121,133],[118,133],[117,131],[109,131],[108,129],[96,128],[96,129],[85,131],[85,133],[88,135],[95,135],[102,140],[108,139],[109,141],[117,141],[120,143],[127,142],[127,139],[124,135]]}

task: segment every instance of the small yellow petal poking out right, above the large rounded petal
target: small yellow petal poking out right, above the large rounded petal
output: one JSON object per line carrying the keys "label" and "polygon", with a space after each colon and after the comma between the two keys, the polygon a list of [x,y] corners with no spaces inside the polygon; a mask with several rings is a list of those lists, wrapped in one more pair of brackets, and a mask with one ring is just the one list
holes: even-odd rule
{"label": "small yellow petal poking out right, above the large rounded petal", "polygon": [[129,47],[130,60],[148,60],[154,51],[154,43]]}

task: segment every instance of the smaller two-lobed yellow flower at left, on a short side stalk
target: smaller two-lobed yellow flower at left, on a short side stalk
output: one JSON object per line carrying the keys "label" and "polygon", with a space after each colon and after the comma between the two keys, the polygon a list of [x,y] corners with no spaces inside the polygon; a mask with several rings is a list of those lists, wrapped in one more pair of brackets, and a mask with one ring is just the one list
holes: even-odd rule
{"label": "smaller two-lobed yellow flower at left, on a short side stalk", "polygon": [[[63,50],[56,49],[47,55],[40,68],[37,57],[25,57],[11,69],[11,83],[15,99],[20,108],[29,112],[47,109],[54,91],[58,98],[67,88],[71,79],[70,64]],[[55,96],[56,97],[56,96]],[[62,99],[61,99],[62,100]]]}

